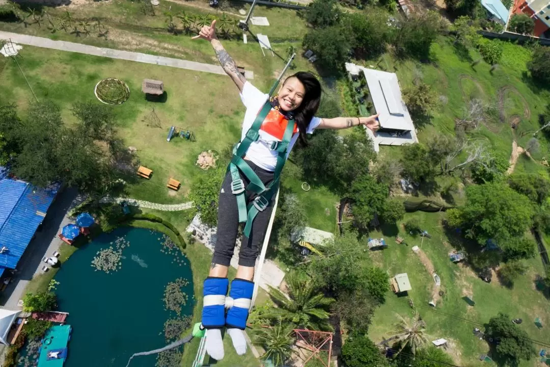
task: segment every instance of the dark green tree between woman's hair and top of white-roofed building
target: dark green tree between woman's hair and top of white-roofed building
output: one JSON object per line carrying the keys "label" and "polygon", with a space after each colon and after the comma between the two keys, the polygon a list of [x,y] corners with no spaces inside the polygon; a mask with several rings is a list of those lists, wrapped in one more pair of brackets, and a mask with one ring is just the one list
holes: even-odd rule
{"label": "dark green tree between woman's hair and top of white-roofed building", "polygon": [[342,72],[351,49],[350,37],[342,27],[333,25],[312,29],[305,35],[303,43],[317,55],[321,67],[329,72]]}

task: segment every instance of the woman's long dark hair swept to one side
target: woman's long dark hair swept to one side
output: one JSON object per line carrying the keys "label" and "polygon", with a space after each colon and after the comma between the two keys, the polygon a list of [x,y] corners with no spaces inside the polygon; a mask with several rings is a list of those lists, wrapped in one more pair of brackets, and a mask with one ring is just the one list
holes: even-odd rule
{"label": "woman's long dark hair swept to one side", "polygon": [[283,85],[287,83],[289,78],[298,78],[306,90],[302,103],[294,110],[294,121],[296,125],[298,125],[300,143],[306,146],[307,128],[309,127],[311,119],[315,116],[315,113],[317,113],[319,103],[321,102],[321,83],[319,83],[317,78],[311,73],[298,72],[285,79]]}

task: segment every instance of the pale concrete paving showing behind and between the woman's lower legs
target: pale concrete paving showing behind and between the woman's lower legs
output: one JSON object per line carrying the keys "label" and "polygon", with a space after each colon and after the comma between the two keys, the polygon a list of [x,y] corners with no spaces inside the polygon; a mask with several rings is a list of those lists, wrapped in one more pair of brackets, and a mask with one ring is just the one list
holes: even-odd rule
{"label": "pale concrete paving showing behind and between the woman's lower legs", "polygon": [[[189,227],[187,227],[187,232],[193,232],[194,229],[196,231],[195,239],[198,242],[204,244],[212,252],[214,252],[214,247],[216,246],[217,229],[210,228],[201,223],[199,215],[196,215],[195,218],[193,218],[193,221],[191,221],[191,224],[189,224]],[[241,241],[240,238],[238,238],[237,244],[235,244],[233,258],[231,259],[231,266],[233,266],[235,269],[237,269],[237,267],[239,266],[240,244]],[[256,260],[256,266],[257,262],[258,260]],[[277,264],[275,264],[272,260],[265,260],[265,262],[263,262],[259,286],[265,289],[266,292],[269,291],[268,285],[278,288],[281,285],[283,278],[284,271],[279,269]]]}

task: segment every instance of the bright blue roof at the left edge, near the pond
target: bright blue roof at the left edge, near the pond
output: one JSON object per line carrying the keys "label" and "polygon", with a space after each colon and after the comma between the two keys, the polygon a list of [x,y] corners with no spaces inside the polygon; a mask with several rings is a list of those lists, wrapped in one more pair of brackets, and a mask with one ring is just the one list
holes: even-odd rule
{"label": "bright blue roof at the left edge, near the pond", "polygon": [[60,187],[36,188],[7,173],[0,167],[0,275],[15,269]]}

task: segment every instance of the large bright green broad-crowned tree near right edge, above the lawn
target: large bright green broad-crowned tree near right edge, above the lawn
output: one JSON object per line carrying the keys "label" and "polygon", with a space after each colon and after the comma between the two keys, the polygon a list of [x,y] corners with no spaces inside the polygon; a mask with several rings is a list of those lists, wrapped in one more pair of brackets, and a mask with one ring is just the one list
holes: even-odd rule
{"label": "large bright green broad-crowned tree near right edge, above the lawn", "polygon": [[501,243],[522,235],[534,215],[525,195],[498,182],[466,187],[466,204],[447,213],[450,226],[464,228],[483,246],[490,238]]}

